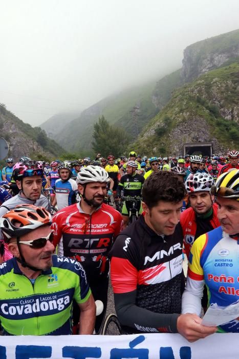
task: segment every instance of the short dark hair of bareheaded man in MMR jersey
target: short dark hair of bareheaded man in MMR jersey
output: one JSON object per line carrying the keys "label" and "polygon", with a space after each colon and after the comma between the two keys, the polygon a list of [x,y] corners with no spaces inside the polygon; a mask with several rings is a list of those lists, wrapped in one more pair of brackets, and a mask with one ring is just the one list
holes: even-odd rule
{"label": "short dark hair of bareheaded man in MMR jersey", "polygon": [[148,208],[157,206],[159,201],[178,203],[186,194],[184,183],[175,173],[169,171],[150,174],[142,190],[143,202]]}

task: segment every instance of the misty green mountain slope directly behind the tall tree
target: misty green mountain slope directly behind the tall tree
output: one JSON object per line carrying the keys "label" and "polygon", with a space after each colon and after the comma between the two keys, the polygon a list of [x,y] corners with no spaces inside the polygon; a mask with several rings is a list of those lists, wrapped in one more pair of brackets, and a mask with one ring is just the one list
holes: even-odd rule
{"label": "misty green mountain slope directly behind the tall tree", "polygon": [[102,99],[82,111],[54,138],[68,151],[89,155],[94,123],[102,115],[110,124],[124,128],[133,139],[136,138],[149,119],[158,112],[152,100],[154,87],[155,82]]}

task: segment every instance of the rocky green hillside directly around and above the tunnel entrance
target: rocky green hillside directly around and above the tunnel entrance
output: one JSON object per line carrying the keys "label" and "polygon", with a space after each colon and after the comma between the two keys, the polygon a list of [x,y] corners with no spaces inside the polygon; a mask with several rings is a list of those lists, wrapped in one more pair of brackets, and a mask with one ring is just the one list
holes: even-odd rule
{"label": "rocky green hillside directly around and above the tunnel entrance", "polygon": [[183,143],[212,142],[213,151],[239,148],[239,58],[175,90],[132,148],[141,154],[182,154]]}

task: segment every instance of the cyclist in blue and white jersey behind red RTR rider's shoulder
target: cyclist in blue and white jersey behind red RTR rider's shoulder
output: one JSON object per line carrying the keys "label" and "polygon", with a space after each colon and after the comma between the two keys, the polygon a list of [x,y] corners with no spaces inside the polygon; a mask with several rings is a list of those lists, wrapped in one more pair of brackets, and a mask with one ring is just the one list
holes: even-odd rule
{"label": "cyclist in blue and white jersey behind red RTR rider's shoulder", "polygon": [[55,182],[56,203],[58,210],[76,203],[78,187],[71,178],[71,166],[63,162],[57,167],[60,178]]}

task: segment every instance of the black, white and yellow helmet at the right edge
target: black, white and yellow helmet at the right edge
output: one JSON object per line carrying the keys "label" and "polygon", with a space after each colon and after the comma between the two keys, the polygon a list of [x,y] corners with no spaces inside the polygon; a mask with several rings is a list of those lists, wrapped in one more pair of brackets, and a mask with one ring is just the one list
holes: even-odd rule
{"label": "black, white and yellow helmet at the right edge", "polygon": [[211,194],[239,201],[239,170],[230,169],[216,179]]}

